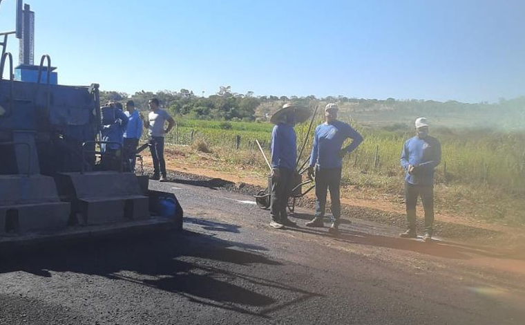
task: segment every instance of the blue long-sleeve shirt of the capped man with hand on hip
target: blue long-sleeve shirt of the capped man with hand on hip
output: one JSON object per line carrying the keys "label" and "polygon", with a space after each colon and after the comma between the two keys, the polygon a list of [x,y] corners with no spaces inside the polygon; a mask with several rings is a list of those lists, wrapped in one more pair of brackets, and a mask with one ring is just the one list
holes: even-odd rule
{"label": "blue long-sleeve shirt of the capped man with hand on hip", "polygon": [[352,139],[352,143],[345,148],[349,153],[363,142],[361,134],[345,122],[336,120],[331,124],[319,124],[314,133],[310,166],[314,167],[317,164],[319,168],[341,167],[341,146],[347,138]]}

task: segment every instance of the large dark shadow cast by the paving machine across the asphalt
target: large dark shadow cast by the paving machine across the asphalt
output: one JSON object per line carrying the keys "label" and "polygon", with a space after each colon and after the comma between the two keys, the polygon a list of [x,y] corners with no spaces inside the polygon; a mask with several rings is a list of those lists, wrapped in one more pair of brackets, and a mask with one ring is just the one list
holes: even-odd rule
{"label": "large dark shadow cast by the paving machine across the asphalt", "polygon": [[[236,225],[189,221],[203,229],[239,231]],[[39,252],[9,259],[0,257],[0,273],[23,271],[43,278],[53,277],[55,272],[97,275],[163,290],[198,304],[263,318],[270,318],[271,311],[320,296],[275,281],[271,275],[278,274],[278,269],[254,272],[254,265],[283,266],[258,253],[263,250],[266,249],[258,245],[184,230],[140,239],[77,243],[51,250],[42,248]]]}

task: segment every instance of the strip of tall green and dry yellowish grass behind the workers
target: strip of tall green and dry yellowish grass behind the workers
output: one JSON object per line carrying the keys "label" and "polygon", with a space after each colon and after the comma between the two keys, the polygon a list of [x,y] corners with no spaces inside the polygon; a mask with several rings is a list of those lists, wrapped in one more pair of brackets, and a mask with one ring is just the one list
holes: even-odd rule
{"label": "strip of tall green and dry yellowish grass behind the workers", "polygon": [[[309,121],[296,125],[298,151],[306,139],[299,165],[309,158],[313,132],[321,122],[318,117],[309,133]],[[414,131],[399,125],[367,127],[351,120],[344,122],[350,122],[365,140],[343,160],[343,183],[401,196],[405,174],[400,166],[401,149]],[[267,173],[254,140],[262,143],[269,158],[273,127],[269,123],[180,120],[178,135],[174,130],[166,137],[166,143],[191,145],[193,130],[193,147],[204,143],[206,150],[200,151],[211,151],[226,164],[223,167],[247,167]],[[461,210],[487,219],[525,222],[525,132],[445,128],[430,131],[440,140],[442,149],[441,164],[436,169],[438,210]],[[241,137],[239,149],[236,136]]]}

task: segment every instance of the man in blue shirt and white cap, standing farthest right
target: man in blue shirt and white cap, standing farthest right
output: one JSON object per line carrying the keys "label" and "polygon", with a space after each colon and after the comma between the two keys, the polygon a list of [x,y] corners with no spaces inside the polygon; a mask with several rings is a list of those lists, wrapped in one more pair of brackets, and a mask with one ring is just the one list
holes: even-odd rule
{"label": "man in blue shirt and white cap, standing farthest right", "polygon": [[439,140],[428,136],[428,120],[416,120],[417,135],[406,140],[401,151],[401,166],[406,171],[405,204],[408,230],[401,234],[403,238],[417,238],[416,204],[421,195],[425,210],[424,241],[432,240],[434,225],[434,169],[441,162]]}

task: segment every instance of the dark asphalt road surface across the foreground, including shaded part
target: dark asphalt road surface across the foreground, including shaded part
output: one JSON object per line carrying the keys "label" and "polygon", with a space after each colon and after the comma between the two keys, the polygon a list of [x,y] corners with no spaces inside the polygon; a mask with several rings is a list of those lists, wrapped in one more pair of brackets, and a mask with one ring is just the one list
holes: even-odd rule
{"label": "dark asphalt road surface across the foreground, including shaded part", "polygon": [[[0,324],[525,324],[524,272],[364,221],[273,230],[249,196],[158,183],[184,231],[0,257]],[[483,266],[476,261],[485,261]]]}

